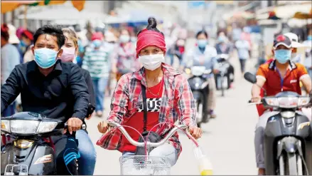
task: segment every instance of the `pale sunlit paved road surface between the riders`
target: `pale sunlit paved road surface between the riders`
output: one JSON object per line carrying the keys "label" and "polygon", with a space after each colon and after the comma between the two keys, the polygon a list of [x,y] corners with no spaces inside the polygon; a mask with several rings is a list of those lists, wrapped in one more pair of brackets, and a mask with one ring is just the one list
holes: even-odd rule
{"label": "pale sunlit paved road surface between the riders", "polygon": [[[254,126],[257,122],[257,111],[254,106],[248,106],[251,84],[244,81],[240,74],[240,65],[237,58],[232,58],[235,66],[235,88],[228,90],[225,97],[217,93],[217,118],[203,125],[203,138],[200,145],[209,155],[213,163],[215,175],[255,175],[257,173],[254,160]],[[247,62],[251,68],[254,61]],[[109,99],[105,100],[109,113]],[[93,117],[87,121],[88,131],[93,143],[99,139],[97,123],[102,118]],[[172,175],[198,175],[198,166],[193,156],[193,144],[181,135],[183,152],[173,166]],[[119,175],[118,151],[104,150],[96,146],[97,165],[95,175]]]}

